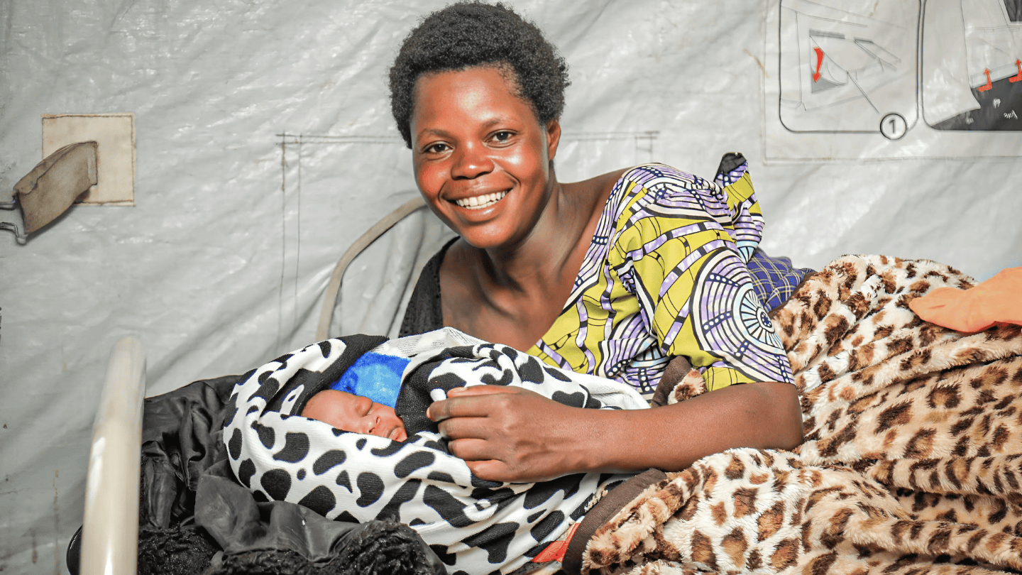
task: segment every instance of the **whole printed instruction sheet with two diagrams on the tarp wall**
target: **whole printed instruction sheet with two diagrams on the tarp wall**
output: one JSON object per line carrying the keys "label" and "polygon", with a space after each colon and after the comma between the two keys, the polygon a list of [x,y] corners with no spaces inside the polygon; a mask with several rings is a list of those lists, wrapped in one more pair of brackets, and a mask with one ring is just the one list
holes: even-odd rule
{"label": "whole printed instruction sheet with two diagrams on the tarp wall", "polygon": [[768,160],[1022,156],[1022,0],[774,0]]}

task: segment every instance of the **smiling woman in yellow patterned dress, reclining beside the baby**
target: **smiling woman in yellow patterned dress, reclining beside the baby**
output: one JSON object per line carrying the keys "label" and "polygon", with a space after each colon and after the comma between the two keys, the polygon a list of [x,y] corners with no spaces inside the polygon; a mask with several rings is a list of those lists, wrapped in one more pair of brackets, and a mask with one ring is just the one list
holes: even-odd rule
{"label": "smiling woman in yellow patterned dress, reclining beside the baby", "polygon": [[[665,166],[559,182],[566,85],[554,47],[501,5],[448,6],[405,40],[390,71],[394,119],[423,197],[460,235],[432,262],[439,317],[423,322],[410,306],[406,322],[442,323],[640,385],[655,385],[684,357],[716,391],[599,412],[477,386],[433,403],[430,418],[452,452],[493,481],[679,471],[731,447],[795,447],[791,368],[761,305],[748,299],[751,248],[736,242],[758,242],[751,186],[730,197]],[[428,282],[424,273],[413,302]],[[734,311],[743,306],[743,318],[759,320],[758,340],[733,337],[748,334]]]}

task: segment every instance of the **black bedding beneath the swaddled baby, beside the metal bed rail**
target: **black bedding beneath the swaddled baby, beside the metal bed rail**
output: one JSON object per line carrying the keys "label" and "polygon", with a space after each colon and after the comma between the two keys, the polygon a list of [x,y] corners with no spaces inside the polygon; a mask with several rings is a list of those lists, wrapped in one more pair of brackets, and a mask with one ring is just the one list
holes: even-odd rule
{"label": "black bedding beneath the swaddled baby, beside the metal bed rail", "polygon": [[294,503],[258,502],[238,485],[220,436],[241,379],[202,380],[145,400],[140,575],[447,573],[405,525],[329,521]]}

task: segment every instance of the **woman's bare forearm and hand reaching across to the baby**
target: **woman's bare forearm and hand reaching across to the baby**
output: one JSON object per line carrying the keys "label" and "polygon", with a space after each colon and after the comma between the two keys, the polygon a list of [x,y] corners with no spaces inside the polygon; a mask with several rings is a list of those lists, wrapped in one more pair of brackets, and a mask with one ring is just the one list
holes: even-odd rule
{"label": "woman's bare forearm and hand reaching across to the baby", "polygon": [[802,441],[795,386],[731,386],[637,410],[579,409],[520,388],[474,386],[430,405],[450,449],[480,479],[544,481],[583,472],[682,471],[733,447]]}

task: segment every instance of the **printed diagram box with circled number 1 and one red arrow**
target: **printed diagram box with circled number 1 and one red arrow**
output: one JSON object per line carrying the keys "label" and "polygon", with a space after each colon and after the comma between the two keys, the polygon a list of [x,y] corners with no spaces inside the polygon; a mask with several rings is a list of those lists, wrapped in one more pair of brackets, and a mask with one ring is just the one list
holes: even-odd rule
{"label": "printed diagram box with circled number 1 and one red arrow", "polygon": [[783,126],[903,136],[918,120],[919,14],[919,2],[781,0]]}

